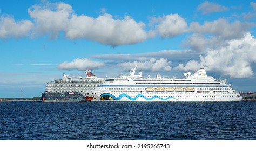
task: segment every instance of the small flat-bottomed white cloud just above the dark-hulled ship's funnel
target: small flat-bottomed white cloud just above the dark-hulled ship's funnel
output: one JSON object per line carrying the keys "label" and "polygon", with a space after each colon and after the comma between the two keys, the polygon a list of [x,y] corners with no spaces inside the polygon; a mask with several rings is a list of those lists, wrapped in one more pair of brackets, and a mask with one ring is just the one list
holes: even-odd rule
{"label": "small flat-bottomed white cloud just above the dark-hulled ship's funnel", "polygon": [[96,68],[103,67],[104,63],[98,62],[98,61],[93,61],[87,58],[78,58],[74,59],[70,63],[68,62],[63,62],[61,63],[58,68],[61,70],[72,70],[72,69],[77,69],[77,70],[93,70]]}

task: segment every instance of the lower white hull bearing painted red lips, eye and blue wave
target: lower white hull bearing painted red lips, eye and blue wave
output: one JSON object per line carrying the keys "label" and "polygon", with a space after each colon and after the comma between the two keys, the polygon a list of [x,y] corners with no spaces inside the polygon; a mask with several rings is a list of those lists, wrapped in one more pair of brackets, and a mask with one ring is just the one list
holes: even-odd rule
{"label": "lower white hull bearing painted red lips, eye and blue wave", "polygon": [[[209,102],[209,101],[241,101],[242,97],[236,92],[230,93],[197,93],[197,92],[187,92],[187,93],[112,93],[112,92],[90,92],[82,93],[86,99],[89,101],[171,101],[171,102]],[[91,97],[90,97],[91,96]]]}

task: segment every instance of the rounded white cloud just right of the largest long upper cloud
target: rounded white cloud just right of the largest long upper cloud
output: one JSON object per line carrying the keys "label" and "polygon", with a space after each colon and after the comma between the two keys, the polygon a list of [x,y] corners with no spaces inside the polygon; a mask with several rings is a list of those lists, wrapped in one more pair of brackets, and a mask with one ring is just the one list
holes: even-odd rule
{"label": "rounded white cloud just right of the largest long upper cloud", "polygon": [[187,31],[186,20],[178,14],[170,14],[155,20],[160,20],[157,31],[161,37],[172,38]]}

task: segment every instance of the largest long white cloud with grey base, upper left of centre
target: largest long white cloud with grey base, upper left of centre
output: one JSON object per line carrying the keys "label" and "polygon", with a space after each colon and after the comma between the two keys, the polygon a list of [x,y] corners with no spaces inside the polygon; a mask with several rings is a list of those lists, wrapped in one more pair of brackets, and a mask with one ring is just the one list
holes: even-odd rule
{"label": "largest long white cloud with grey base, upper left of centre", "polygon": [[73,15],[65,32],[69,39],[90,39],[118,46],[146,40],[144,26],[144,23],[137,23],[129,16],[125,16],[123,20],[114,20],[107,13],[98,18]]}

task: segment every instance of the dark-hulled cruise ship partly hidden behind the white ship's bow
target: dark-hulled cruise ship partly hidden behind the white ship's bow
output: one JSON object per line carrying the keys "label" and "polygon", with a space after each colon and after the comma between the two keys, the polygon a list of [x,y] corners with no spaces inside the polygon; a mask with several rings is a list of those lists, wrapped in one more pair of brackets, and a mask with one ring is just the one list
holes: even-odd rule
{"label": "dark-hulled cruise ship partly hidden behind the white ship's bow", "polygon": [[105,82],[105,78],[96,77],[91,70],[86,70],[85,73],[86,77],[69,77],[64,73],[62,79],[47,83],[41,100],[43,102],[83,101],[84,97],[80,92],[93,90]]}

